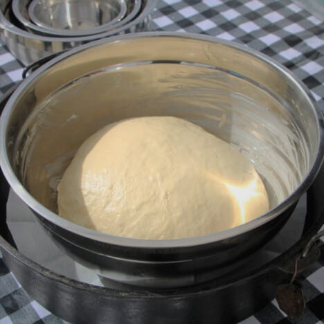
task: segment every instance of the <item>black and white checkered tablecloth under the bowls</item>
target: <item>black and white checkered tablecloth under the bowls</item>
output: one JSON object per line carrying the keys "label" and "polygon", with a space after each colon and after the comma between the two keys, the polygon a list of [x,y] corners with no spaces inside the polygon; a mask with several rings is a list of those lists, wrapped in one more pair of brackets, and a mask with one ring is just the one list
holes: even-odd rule
{"label": "black and white checkered tablecloth under the bowls", "polygon": [[[305,7],[305,6],[304,6]],[[203,33],[244,43],[273,57],[311,89],[324,111],[324,24],[290,0],[159,0],[152,30]],[[23,66],[0,43],[0,94],[21,79]],[[275,300],[243,323],[324,323],[324,244],[321,259],[298,279],[303,317],[289,319]],[[30,300],[0,258],[0,324],[64,323]]]}

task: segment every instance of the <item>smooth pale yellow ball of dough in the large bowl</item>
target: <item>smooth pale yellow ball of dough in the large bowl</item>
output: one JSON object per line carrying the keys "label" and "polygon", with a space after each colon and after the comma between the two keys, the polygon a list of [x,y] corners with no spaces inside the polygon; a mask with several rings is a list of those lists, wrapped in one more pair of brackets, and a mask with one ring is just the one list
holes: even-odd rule
{"label": "smooth pale yellow ball of dough in the large bowl", "polygon": [[144,239],[215,233],[269,210],[262,180],[237,149],[174,117],[100,129],[81,145],[57,190],[62,217]]}

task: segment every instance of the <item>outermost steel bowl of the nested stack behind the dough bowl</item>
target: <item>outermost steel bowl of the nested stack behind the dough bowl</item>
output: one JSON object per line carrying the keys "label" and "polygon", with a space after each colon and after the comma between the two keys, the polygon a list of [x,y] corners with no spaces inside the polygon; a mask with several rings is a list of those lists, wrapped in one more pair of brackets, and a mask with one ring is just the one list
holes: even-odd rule
{"label": "outermost steel bowl of the nested stack behind the dough bowl", "polygon": [[52,53],[65,51],[96,39],[147,30],[150,22],[150,13],[155,8],[157,0],[141,1],[141,10],[138,12],[138,15],[135,15],[132,20],[125,23],[125,19],[131,15],[130,12],[134,12],[136,2],[132,1],[133,6],[129,8],[129,15],[127,13],[127,17],[123,19],[123,23],[125,24],[116,26],[113,30],[105,33],[84,37],[49,37],[28,33],[28,31],[15,26],[14,21],[10,21],[10,6],[8,6],[10,1],[0,1],[1,39],[19,61],[28,65]]}

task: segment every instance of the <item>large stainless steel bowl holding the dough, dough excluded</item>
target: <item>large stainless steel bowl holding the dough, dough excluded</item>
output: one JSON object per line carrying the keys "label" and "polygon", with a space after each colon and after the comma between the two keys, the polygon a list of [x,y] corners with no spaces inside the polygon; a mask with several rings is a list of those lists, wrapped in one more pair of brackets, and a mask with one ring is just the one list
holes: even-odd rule
{"label": "large stainless steel bowl holding the dough, dough excluded", "polygon": [[[56,186],[75,150],[102,125],[177,116],[235,145],[255,165],[271,210],[227,231],[137,240],[56,214]],[[139,33],[60,55],[30,75],[0,120],[0,164],[46,231],[101,276],[132,285],[194,285],[237,267],[285,223],[323,161],[323,127],[309,91],[268,57],[183,33]],[[181,145],[181,143],[179,143]]]}

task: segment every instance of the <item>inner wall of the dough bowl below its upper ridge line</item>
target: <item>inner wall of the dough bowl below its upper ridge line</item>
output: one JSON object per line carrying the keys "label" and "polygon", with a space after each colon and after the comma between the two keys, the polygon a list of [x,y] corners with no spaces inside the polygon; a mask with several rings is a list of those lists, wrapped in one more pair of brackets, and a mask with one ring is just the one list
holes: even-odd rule
{"label": "inner wall of the dough bowl below its upper ridge line", "polygon": [[22,182],[56,212],[57,184],[83,141],[108,123],[138,116],[185,118],[235,145],[260,173],[271,207],[287,198],[308,170],[303,132],[268,91],[211,67],[142,62],[84,75],[48,96],[18,136]]}

